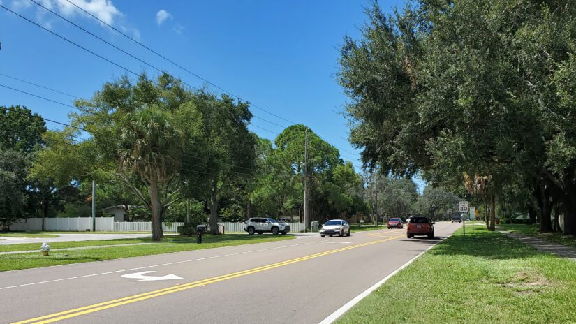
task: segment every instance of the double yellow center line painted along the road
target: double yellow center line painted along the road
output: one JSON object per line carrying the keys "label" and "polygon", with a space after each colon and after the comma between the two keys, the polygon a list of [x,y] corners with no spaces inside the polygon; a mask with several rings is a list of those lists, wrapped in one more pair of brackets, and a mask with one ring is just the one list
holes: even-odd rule
{"label": "double yellow center line painted along the road", "polygon": [[[402,236],[404,236],[404,235],[402,235]],[[90,313],[94,313],[95,311],[102,311],[104,309],[109,309],[112,307],[118,307],[118,306],[125,305],[125,304],[131,304],[133,302],[139,302],[140,300],[147,300],[149,298],[167,295],[170,293],[177,293],[178,291],[191,289],[191,288],[195,288],[198,286],[206,286],[210,283],[216,283],[219,281],[225,281],[228,279],[243,277],[243,276],[246,276],[249,274],[255,274],[257,272],[262,272],[265,270],[274,269],[276,267],[283,267],[285,265],[291,265],[293,263],[298,263],[298,262],[302,262],[305,260],[310,260],[312,258],[318,258],[320,256],[327,256],[327,255],[333,254],[333,253],[338,253],[338,252],[347,251],[347,250],[351,250],[351,249],[357,249],[357,248],[362,247],[362,246],[368,246],[368,245],[372,245],[372,244],[390,241],[390,240],[397,239],[398,237],[401,237],[401,236],[388,237],[384,240],[376,240],[376,241],[371,241],[371,242],[367,242],[367,243],[356,244],[356,245],[352,245],[352,246],[346,246],[346,247],[343,247],[341,249],[334,249],[334,250],[330,250],[330,251],[326,251],[326,252],[311,254],[310,256],[303,256],[302,258],[295,258],[295,259],[291,259],[291,260],[282,261],[279,263],[273,263],[271,265],[264,265],[262,267],[255,267],[255,268],[249,269],[249,270],[244,270],[244,271],[240,271],[240,272],[233,272],[231,274],[223,274],[223,275],[218,276],[218,277],[212,277],[212,278],[208,278],[208,279],[204,279],[204,280],[193,281],[191,283],[185,283],[185,284],[179,285],[179,286],[172,286],[169,288],[153,290],[153,291],[150,291],[148,293],[142,293],[142,294],[133,295],[133,296],[129,296],[129,297],[123,297],[123,298],[119,298],[117,300],[110,300],[108,302],[101,302],[98,304],[92,304],[89,306],[84,306],[84,307],[80,307],[80,308],[76,308],[76,309],[70,309],[68,311],[61,311],[59,313],[40,316],[40,317],[36,317],[36,318],[30,318],[29,320],[15,322],[13,324],[52,323],[52,322],[56,322],[56,321],[62,321],[62,320],[65,320],[66,318],[72,318],[72,317],[81,316],[84,314],[90,314]]]}

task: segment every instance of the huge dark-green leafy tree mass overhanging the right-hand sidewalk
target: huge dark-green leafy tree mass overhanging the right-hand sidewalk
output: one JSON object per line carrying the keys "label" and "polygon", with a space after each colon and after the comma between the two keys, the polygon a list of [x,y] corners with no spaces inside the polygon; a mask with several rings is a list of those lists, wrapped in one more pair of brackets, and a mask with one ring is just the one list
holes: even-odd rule
{"label": "huge dark-green leafy tree mass overhanging the right-hand sidewalk", "polygon": [[492,223],[503,190],[528,187],[541,221],[556,201],[565,232],[576,233],[575,10],[568,1],[422,0],[384,15],[374,4],[362,40],[341,48],[350,140],[364,162],[447,187],[463,175],[489,179]]}

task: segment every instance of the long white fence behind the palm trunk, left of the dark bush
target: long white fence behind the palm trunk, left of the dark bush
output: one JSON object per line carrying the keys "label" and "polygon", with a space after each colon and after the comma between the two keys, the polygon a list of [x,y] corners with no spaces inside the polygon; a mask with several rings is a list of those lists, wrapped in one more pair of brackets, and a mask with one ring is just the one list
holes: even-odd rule
{"label": "long white fence behind the palm trunk, left of the dark bush", "polygon": [[[176,232],[184,223],[163,223],[164,232]],[[44,229],[59,232],[91,230],[91,217],[55,217],[44,219]],[[10,230],[42,230],[41,218],[22,219],[10,225]],[[150,221],[114,221],[114,217],[96,217],[96,230],[105,232],[152,232]]]}

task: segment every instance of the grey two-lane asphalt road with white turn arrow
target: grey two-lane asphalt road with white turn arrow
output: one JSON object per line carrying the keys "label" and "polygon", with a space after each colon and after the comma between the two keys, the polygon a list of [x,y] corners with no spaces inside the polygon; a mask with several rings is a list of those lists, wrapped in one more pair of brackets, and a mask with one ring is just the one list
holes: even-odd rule
{"label": "grey two-lane asphalt road with white turn arrow", "polygon": [[1,272],[0,322],[319,323],[459,226]]}

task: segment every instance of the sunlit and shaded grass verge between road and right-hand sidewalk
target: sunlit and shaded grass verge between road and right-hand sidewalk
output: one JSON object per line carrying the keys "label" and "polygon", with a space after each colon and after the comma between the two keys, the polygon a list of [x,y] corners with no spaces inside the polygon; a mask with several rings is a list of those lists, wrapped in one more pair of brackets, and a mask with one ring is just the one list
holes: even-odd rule
{"label": "sunlit and shaded grass verge between road and right-hand sidewalk", "polygon": [[576,262],[461,229],[337,323],[573,323]]}

